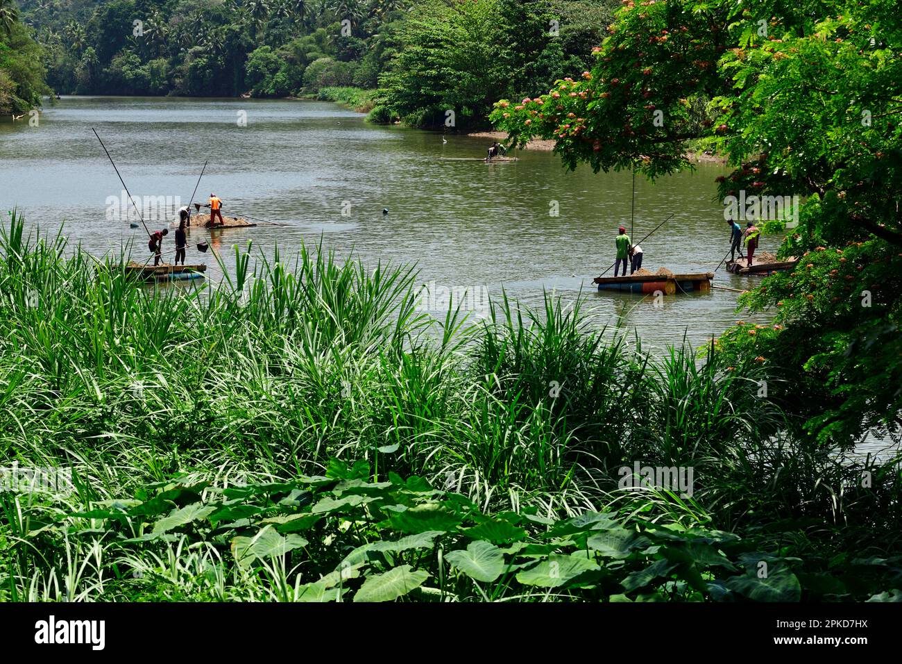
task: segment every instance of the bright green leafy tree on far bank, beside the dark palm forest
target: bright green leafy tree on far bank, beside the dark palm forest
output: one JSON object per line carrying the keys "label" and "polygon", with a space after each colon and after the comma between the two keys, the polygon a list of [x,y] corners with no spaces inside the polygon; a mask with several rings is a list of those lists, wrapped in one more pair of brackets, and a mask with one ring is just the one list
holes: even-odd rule
{"label": "bright green leafy tree on far bank, beside the dark palm forest", "polygon": [[588,53],[566,51],[550,29],[556,17],[545,0],[416,5],[393,31],[381,103],[413,126],[442,126],[447,110],[457,127],[482,125],[499,97],[584,67]]}

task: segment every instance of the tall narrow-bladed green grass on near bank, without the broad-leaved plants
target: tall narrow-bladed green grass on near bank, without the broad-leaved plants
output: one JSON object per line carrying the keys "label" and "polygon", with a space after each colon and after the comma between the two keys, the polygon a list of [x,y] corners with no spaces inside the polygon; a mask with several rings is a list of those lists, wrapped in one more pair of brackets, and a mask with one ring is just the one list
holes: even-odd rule
{"label": "tall narrow-bladed green grass on near bank, without the broad-leaved plants", "polygon": [[[340,262],[321,246],[289,261],[235,252],[218,284],[157,287],[124,274],[126,257],[26,235],[18,214],[0,231],[0,458],[71,467],[77,486],[0,493],[7,596],[108,596],[104,576],[125,556],[168,579],[160,598],[235,599],[242,583],[247,598],[289,597],[296,575],[262,567],[284,559],[236,570],[206,531],[189,533],[203,542],[190,551],[163,539],[124,552],[105,548],[115,519],[78,542],[44,528],[92,531],[72,515],[147,500],[179,477],[222,491],[296,482],[336,459],[363,463],[369,482],[419,476],[460,494],[476,522],[597,510],[822,557],[898,553],[899,460],[800,443],[758,396],[768,377],[755,362],[727,371],[688,348],[654,357],[589,327],[582,302],[549,295],[538,311],[502,295],[479,324],[459,310],[434,319],[419,311],[410,267]],[[693,495],[619,488],[635,461],[693,467]]]}

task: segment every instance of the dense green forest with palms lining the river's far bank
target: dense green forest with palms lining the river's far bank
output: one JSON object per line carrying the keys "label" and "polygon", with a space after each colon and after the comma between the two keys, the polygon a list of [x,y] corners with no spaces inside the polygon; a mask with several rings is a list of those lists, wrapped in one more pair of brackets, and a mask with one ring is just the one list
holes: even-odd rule
{"label": "dense green forest with palms lining the river's far bank", "polygon": [[[12,2],[13,0],[0,0]],[[19,0],[64,94],[372,90],[379,122],[487,125],[590,65],[618,0]],[[2,83],[2,79],[0,79]],[[360,96],[354,96],[359,99]]]}

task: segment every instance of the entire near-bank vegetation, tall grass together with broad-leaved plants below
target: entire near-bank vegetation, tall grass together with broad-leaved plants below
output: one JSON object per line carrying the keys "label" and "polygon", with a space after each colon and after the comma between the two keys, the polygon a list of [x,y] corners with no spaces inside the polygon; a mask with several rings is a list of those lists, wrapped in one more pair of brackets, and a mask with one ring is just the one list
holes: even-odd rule
{"label": "entire near-bank vegetation, tall grass together with broad-leaved plants below", "polygon": [[2,229],[0,599],[902,598],[899,459],[810,442],[754,359],[237,257],[159,289]]}

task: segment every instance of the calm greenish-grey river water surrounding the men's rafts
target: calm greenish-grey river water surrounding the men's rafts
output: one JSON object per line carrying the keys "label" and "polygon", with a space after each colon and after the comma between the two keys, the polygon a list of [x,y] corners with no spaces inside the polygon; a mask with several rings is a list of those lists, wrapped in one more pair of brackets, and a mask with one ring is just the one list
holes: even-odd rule
{"label": "calm greenish-grey river water surrounding the men's rafts", "polygon": [[[238,126],[240,111],[247,126]],[[730,236],[723,207],[713,200],[713,180],[724,173],[716,165],[655,183],[637,179],[630,223],[630,173],[570,173],[556,155],[538,151],[516,153],[520,161],[513,164],[485,164],[479,159],[485,140],[448,136],[443,144],[441,135],[368,125],[326,102],[64,98],[42,113],[39,127],[0,125],[5,209],[18,206],[43,229],[65,220],[69,237],[92,252],[118,253],[132,242],[142,256],[140,225],[105,219],[106,198],[122,187],[91,127],[134,196],[187,203],[208,160],[195,201],[216,192],[226,215],[282,224],[212,234],[191,229],[188,262],[207,263],[213,280],[221,278],[215,260],[195,248],[211,235],[210,248],[228,269],[234,245],[253,241],[267,255],[278,245],[284,256],[322,238],[338,256],[416,263],[420,283],[450,291],[485,287],[498,295],[503,288],[535,305],[543,292],[572,299],[582,290],[595,324],[630,337],[636,331],[646,349],[684,337],[698,346],[738,317],[738,294],[728,290],[667,295],[656,306],[652,297],[598,293],[592,284],[613,262],[618,226],[631,227],[639,240],[671,214],[641,242],[643,267],[713,270]],[[777,242],[765,237],[759,250],[772,251]],[[741,289],[755,280],[722,267],[714,283]]]}

